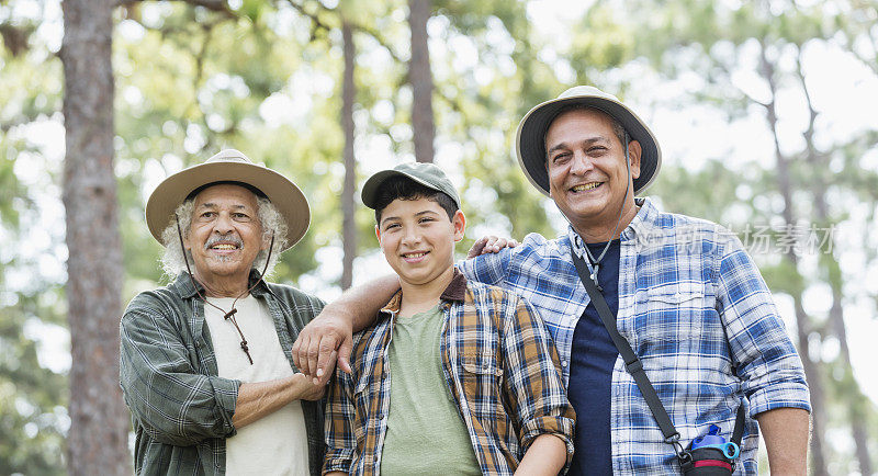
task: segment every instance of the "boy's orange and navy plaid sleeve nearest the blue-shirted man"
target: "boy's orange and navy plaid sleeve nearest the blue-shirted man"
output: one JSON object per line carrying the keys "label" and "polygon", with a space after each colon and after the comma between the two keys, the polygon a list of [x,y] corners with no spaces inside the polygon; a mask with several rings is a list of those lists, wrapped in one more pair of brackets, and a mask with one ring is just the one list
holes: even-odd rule
{"label": "boy's orange and navy plaid sleeve nearest the blue-shirted man", "polygon": [[561,379],[558,351],[537,310],[524,298],[516,299],[515,318],[505,329],[504,353],[521,447],[527,452],[541,434],[561,438],[567,449],[566,471],[573,458],[576,416]]}

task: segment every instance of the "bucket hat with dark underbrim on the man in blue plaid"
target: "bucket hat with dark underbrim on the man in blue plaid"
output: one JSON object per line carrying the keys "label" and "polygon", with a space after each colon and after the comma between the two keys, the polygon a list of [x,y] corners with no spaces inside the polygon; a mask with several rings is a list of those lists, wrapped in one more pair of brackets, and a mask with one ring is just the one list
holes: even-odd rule
{"label": "bucket hat with dark underbrim on the man in blue plaid", "polygon": [[618,98],[592,86],[577,86],[531,109],[518,124],[515,151],[518,165],[530,183],[549,196],[549,173],[545,171],[545,133],[559,111],[571,104],[598,109],[619,121],[632,140],[640,143],[640,177],[634,179],[634,194],[652,184],[662,167],[662,149],[655,135],[631,109]]}

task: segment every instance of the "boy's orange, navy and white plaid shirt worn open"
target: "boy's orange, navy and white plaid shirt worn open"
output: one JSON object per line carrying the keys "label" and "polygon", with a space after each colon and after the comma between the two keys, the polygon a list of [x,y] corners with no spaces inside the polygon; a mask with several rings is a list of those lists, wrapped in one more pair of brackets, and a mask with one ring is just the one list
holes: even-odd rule
{"label": "boy's orange, navy and white plaid shirt worn open", "polygon": [[[440,299],[446,384],[482,473],[511,475],[533,439],[547,433],[564,440],[570,463],[575,417],[556,351],[530,304],[468,283],[458,271]],[[325,473],[379,473],[391,405],[387,348],[401,303],[402,292],[354,337],[353,374],[336,371],[327,397]]]}

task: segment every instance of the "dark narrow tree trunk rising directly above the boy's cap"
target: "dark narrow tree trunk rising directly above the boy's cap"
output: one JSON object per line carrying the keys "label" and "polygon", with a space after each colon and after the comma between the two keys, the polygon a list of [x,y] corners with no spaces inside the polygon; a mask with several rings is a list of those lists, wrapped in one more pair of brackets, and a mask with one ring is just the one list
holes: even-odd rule
{"label": "dark narrow tree trunk rising directly above the boy's cap", "polygon": [[430,0],[408,1],[408,24],[412,29],[412,59],[408,80],[412,83],[412,127],[415,140],[415,160],[432,162],[432,141],[436,135],[432,121],[432,72],[430,50],[427,45],[427,20],[430,19]]}

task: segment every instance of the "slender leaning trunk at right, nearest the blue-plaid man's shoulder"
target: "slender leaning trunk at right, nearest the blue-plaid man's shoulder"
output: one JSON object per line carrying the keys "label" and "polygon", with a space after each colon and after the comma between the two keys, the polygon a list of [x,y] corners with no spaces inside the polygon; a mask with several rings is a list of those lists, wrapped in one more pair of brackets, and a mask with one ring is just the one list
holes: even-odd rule
{"label": "slender leaning trunk at right, nearest the blue-plaid man's shoulder", "polygon": [[[768,60],[765,53],[765,44],[762,44],[759,52],[759,75],[768,83],[772,99],[767,104],[763,104],[766,111],[766,120],[772,131],[775,145],[775,159],[777,161],[777,186],[780,196],[784,199],[784,222],[787,227],[796,225],[796,217],[792,209],[792,184],[789,173],[789,160],[780,150],[780,143],[777,133],[777,110],[775,99],[777,98],[777,84],[775,83],[775,66]],[[790,228],[788,228],[790,229]],[[784,254],[792,265],[796,280],[802,282],[799,274],[799,259],[792,247]],[[801,287],[801,286],[799,286]],[[811,358],[809,336],[811,333],[811,318],[802,307],[802,291],[797,290],[792,296],[796,308],[796,327],[798,328],[799,354],[801,355],[802,366],[804,367],[808,387],[811,390],[811,469],[813,476],[829,475],[826,466],[826,449],[824,446],[825,437],[825,392],[823,388],[823,377],[820,363]]]}

